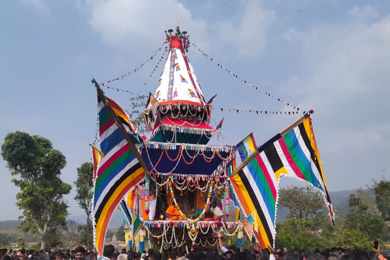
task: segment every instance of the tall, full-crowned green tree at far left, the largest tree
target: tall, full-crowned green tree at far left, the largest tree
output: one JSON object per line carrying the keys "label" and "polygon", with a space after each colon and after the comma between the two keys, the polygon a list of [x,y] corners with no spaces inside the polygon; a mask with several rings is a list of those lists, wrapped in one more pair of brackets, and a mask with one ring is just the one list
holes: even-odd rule
{"label": "tall, full-crowned green tree at far left, the largest tree", "polygon": [[50,140],[18,131],[6,136],[1,152],[11,175],[20,177],[12,180],[20,188],[16,195],[16,205],[23,211],[19,229],[38,236],[45,249],[49,235],[68,216],[63,196],[72,186],[60,179],[66,158]]}

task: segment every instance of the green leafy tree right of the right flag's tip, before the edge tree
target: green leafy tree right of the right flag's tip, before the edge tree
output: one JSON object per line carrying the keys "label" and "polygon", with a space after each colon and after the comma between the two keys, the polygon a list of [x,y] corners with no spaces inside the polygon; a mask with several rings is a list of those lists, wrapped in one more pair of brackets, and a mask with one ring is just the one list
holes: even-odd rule
{"label": "green leafy tree right of the right flag's tip, before the edge tree", "polygon": [[381,238],[383,232],[383,220],[375,214],[373,204],[364,191],[358,190],[349,195],[346,216],[349,229],[367,233],[371,240]]}

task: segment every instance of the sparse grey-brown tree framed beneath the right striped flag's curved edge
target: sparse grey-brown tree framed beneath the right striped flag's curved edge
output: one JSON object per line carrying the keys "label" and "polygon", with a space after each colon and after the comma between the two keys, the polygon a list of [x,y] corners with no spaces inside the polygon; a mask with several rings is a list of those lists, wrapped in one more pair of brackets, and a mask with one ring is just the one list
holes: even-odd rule
{"label": "sparse grey-brown tree framed beneath the right striped flag's curved edge", "polygon": [[312,231],[317,230],[323,219],[327,217],[324,214],[326,205],[323,194],[311,186],[281,188],[278,203],[288,209],[288,218],[310,221]]}

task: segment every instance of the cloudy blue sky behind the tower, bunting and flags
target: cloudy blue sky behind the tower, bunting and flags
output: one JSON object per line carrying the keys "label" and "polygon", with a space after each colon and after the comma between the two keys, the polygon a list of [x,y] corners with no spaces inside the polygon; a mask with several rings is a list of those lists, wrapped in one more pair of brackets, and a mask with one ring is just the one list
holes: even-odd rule
{"label": "cloudy blue sky behind the tower, bunting and flags", "polygon": [[[0,2],[1,143],[13,131],[50,139],[67,157],[63,180],[73,183],[76,168],[90,159],[88,143],[96,130],[91,78],[107,81],[136,68],[164,42],[164,30],[179,22],[213,59],[285,101],[315,111],[314,132],[331,191],[388,177],[390,2],[223,2]],[[215,106],[289,111],[217,69],[196,48],[188,56],[206,99],[218,94]],[[156,61],[111,86],[154,92],[158,76],[149,75]],[[106,94],[128,108],[128,94]],[[213,117],[217,122],[225,117],[221,133],[226,140],[214,144],[236,144],[252,131],[260,144],[297,119],[220,111]],[[10,180],[0,159],[0,220],[20,214]],[[70,213],[82,215],[73,197],[74,191],[67,197]]]}

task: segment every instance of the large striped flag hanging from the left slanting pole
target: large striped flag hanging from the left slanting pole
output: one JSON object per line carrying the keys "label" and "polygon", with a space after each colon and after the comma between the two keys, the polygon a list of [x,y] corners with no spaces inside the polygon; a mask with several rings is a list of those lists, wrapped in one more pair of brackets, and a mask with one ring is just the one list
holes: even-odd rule
{"label": "large striped flag hanging from the left slanting pole", "polygon": [[[126,192],[144,180],[145,171],[135,154],[138,151],[131,149],[117,123],[125,129],[129,139],[139,144],[142,138],[137,129],[116,102],[104,96],[99,89],[98,93],[100,144],[105,156],[100,161],[94,185],[93,231],[96,249],[102,255],[104,237],[112,213]],[[102,99],[106,99],[107,107]],[[111,111],[120,122],[115,121]]]}

